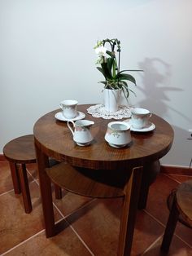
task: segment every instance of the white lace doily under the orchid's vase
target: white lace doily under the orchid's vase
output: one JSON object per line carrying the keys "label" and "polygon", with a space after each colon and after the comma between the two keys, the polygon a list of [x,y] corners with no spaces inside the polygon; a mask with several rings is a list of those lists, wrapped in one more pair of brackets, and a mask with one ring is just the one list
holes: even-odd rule
{"label": "white lace doily under the orchid's vase", "polygon": [[122,119],[124,117],[131,117],[130,108],[127,106],[120,106],[116,112],[108,112],[103,104],[97,104],[87,108],[87,112],[93,117],[102,117],[103,119]]}

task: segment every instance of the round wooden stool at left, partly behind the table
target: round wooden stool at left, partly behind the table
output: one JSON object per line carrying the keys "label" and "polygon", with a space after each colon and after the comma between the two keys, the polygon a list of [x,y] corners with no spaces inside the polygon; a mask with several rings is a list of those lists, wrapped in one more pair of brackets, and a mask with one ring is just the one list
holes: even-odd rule
{"label": "round wooden stool at left, partly behind the table", "polygon": [[[34,148],[33,135],[24,135],[12,139],[3,148],[3,154],[10,164],[13,188],[15,194],[22,192],[24,210],[26,214],[32,211],[31,196],[28,188],[28,176],[26,164],[36,163],[36,152]],[[51,164],[52,166],[53,164]],[[55,185],[55,197],[62,197],[61,189]]]}

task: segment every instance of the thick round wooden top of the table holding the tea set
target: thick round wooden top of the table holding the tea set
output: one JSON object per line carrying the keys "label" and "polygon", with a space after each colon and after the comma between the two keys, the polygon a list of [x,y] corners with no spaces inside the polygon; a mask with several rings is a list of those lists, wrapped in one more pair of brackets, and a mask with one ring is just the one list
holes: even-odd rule
{"label": "thick round wooden top of the table holding the tea set", "polygon": [[[78,111],[85,113],[85,119],[94,121],[91,133],[94,141],[87,147],[74,143],[72,133],[65,121],[55,118],[56,109],[46,113],[35,123],[33,133],[38,148],[47,156],[59,161],[68,161],[72,166],[91,169],[117,170],[139,166],[147,161],[156,161],[169,151],[172,146],[172,126],[163,118],[152,115],[155,130],[147,133],[131,132],[133,143],[129,148],[111,148],[105,141],[107,123],[114,120],[92,117],[87,113],[90,104],[78,105]],[[122,120],[120,120],[122,121]]]}

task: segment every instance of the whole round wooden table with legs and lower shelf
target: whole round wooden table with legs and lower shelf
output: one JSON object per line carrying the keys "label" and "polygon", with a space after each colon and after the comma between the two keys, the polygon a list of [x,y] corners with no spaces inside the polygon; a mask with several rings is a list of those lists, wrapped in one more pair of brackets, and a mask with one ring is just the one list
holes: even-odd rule
{"label": "whole round wooden table with legs and lower shelf", "polygon": [[[85,119],[94,121],[91,128],[94,141],[87,147],[77,146],[66,122],[55,118],[59,109],[41,117],[34,126],[46,236],[54,236],[63,228],[62,224],[55,225],[51,180],[84,196],[124,196],[118,255],[129,255],[140,183],[147,181],[150,171],[147,166],[159,161],[171,148],[173,130],[167,121],[154,114],[151,121],[155,124],[155,130],[131,132],[133,141],[128,148],[111,148],[104,139],[107,123],[111,120],[92,117],[86,111],[89,106],[78,105],[78,111],[85,113]],[[49,169],[48,157],[67,164],[61,163]],[[88,189],[90,186],[94,189]]]}

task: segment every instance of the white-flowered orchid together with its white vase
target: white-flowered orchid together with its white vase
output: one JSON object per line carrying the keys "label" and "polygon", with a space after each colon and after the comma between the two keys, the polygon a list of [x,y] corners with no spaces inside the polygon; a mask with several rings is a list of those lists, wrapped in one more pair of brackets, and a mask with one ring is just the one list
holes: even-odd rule
{"label": "white-flowered orchid together with its white vase", "polygon": [[[111,47],[110,51],[107,49],[106,43]],[[108,112],[116,112],[120,105],[121,92],[126,99],[129,98],[129,91],[135,94],[133,90],[129,89],[127,82],[133,82],[136,86],[136,80],[127,72],[142,70],[125,69],[120,71],[120,41],[118,39],[107,38],[98,41],[94,50],[98,55],[96,64],[100,64],[100,67],[97,68],[105,77],[105,81],[101,81],[104,84],[104,106]]]}

